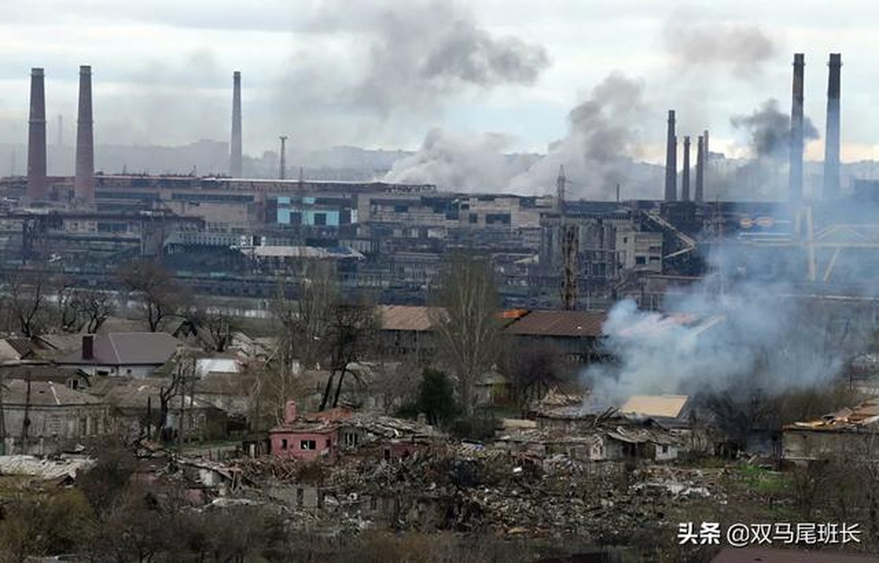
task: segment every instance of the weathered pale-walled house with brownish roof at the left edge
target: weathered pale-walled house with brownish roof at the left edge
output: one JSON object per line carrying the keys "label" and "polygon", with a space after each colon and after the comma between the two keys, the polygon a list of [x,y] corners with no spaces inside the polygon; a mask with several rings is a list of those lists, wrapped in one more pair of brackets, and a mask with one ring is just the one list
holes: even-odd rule
{"label": "weathered pale-walled house with brownish roof at the left edge", "polygon": [[112,429],[107,405],[88,393],[54,381],[6,379],[3,386],[5,453],[48,455]]}

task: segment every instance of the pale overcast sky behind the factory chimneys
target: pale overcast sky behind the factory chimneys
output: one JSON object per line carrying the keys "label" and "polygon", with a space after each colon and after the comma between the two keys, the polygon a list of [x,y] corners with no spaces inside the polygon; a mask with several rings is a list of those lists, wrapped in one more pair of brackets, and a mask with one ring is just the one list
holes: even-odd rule
{"label": "pale overcast sky behind the factory chimneys", "polygon": [[[745,155],[730,118],[773,97],[789,112],[794,52],[823,136],[827,55],[841,52],[843,159],[857,160],[879,144],[877,12],[863,0],[5,0],[0,141],[25,141],[28,75],[43,67],[49,141],[61,114],[72,142],[78,66],[91,64],[99,143],[228,140],[240,69],[251,155],[279,134],[309,148],[418,148],[433,127],[545,152],[619,73],[642,90],[639,156],[661,160],[672,108],[680,135],[708,128],[713,149]],[[807,157],[822,154],[811,142]]]}

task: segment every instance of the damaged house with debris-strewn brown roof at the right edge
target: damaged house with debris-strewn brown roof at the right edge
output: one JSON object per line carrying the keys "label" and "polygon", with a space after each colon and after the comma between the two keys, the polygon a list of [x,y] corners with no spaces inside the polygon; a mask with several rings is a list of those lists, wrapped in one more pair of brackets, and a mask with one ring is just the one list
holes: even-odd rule
{"label": "damaged house with debris-strewn brown roof at the right edge", "polygon": [[875,456],[879,433],[879,399],[809,422],[794,422],[782,429],[782,455],[788,461],[808,462],[846,455]]}

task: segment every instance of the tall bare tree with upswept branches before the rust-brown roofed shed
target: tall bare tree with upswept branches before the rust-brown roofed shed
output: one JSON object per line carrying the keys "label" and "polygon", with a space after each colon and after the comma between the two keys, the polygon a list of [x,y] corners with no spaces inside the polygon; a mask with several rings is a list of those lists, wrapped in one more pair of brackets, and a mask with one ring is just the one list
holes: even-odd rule
{"label": "tall bare tree with upswept branches before the rust-brown roofed shed", "polygon": [[432,319],[439,355],[454,375],[461,408],[473,414],[474,386],[498,359],[501,326],[490,261],[456,256],[445,264]]}

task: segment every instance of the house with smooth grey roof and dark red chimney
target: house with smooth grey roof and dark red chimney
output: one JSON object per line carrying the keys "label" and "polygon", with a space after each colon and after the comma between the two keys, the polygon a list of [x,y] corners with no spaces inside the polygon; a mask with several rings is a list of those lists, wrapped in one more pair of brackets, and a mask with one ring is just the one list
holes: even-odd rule
{"label": "house with smooth grey roof and dark red chimney", "polygon": [[145,378],[171,359],[180,345],[163,332],[83,335],[79,349],[59,357],[56,364],[92,375]]}

